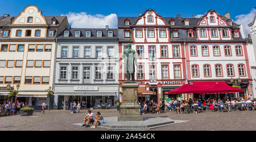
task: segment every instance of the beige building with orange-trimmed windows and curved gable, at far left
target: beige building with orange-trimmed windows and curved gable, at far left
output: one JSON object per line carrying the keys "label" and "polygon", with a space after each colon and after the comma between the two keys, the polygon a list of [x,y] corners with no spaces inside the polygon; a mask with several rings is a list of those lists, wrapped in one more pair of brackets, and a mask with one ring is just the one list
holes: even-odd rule
{"label": "beige building with orange-trimmed windows and curved gable, at far left", "polygon": [[31,106],[47,101],[53,87],[55,38],[68,27],[66,16],[43,16],[34,5],[18,16],[0,17],[0,97],[6,98],[6,85],[16,89],[17,100]]}

